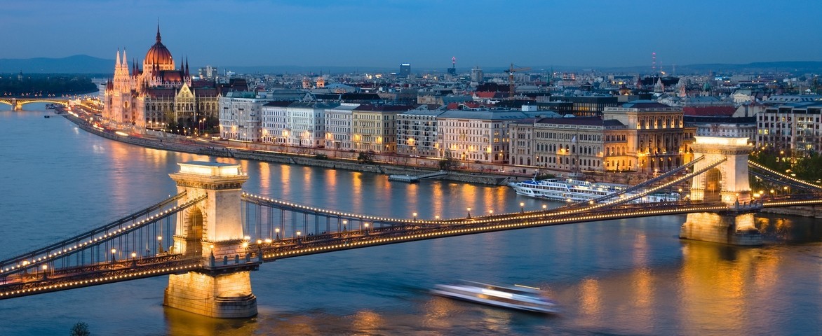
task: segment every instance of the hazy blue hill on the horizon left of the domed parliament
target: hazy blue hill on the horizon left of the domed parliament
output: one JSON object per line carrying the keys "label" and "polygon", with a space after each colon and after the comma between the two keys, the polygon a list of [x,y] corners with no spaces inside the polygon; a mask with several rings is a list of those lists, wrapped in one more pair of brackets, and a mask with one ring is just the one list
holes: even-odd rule
{"label": "hazy blue hill on the horizon left of the domed parliament", "polygon": [[62,58],[0,58],[0,73],[113,74],[114,60],[75,55]]}

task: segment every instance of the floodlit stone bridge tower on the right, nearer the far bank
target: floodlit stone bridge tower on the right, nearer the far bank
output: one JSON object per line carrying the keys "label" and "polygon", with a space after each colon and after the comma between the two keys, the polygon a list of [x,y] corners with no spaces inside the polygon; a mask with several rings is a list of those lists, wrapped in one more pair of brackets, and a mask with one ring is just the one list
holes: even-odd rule
{"label": "floodlit stone bridge tower on the right, nearer the far bank", "polygon": [[688,214],[680,238],[732,245],[761,245],[762,235],[754,226],[754,213],[761,207],[752,204],[748,179],[748,155],[753,145],[748,138],[695,137],[694,157],[704,160],[694,165],[702,170],[717,161],[718,166],[695,176],[690,188],[693,201],[723,202],[723,213]]}

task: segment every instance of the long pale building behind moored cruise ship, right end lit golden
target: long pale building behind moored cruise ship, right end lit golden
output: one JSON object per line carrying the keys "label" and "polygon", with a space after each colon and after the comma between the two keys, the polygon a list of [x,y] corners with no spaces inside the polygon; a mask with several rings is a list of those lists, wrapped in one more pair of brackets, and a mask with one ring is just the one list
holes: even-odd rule
{"label": "long pale building behind moored cruise ship, right end lit golden", "polygon": [[579,171],[636,170],[629,132],[599,117],[532,118],[509,126],[511,164]]}

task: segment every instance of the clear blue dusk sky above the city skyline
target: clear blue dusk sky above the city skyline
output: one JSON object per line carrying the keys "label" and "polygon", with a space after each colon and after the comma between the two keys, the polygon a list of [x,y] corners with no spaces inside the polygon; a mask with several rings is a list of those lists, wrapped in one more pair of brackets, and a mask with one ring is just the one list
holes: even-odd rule
{"label": "clear blue dusk sky above the city skyline", "polygon": [[6,1],[0,58],[142,61],[163,43],[192,66],[644,66],[820,61],[822,2]]}

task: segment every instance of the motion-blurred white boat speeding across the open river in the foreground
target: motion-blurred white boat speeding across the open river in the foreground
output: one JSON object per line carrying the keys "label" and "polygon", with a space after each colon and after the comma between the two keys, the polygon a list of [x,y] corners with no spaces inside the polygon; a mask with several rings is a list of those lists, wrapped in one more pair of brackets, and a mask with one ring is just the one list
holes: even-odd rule
{"label": "motion-blurred white boat speeding across the open river in the foreground", "polygon": [[521,311],[556,313],[559,309],[556,302],[545,297],[538,288],[514,285],[514,287],[496,286],[466,281],[464,284],[437,284],[432,293],[443,297],[483,303],[489,306],[501,306]]}

